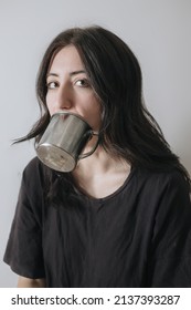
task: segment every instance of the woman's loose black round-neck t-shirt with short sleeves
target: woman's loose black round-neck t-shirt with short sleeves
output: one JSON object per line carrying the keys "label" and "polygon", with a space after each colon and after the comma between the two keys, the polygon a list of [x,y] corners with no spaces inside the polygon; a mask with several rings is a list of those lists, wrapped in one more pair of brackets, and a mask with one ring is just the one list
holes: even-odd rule
{"label": "woman's loose black round-neck t-shirt with short sleeves", "polygon": [[14,272],[47,287],[191,287],[191,203],[180,173],[132,168],[114,194],[55,207],[45,204],[44,169],[35,157],[23,172],[4,255]]}

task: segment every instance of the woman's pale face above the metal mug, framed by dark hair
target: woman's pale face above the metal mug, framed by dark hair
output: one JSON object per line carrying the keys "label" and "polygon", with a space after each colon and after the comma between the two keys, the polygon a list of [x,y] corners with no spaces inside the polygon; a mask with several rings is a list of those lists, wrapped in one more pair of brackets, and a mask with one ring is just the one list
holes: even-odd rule
{"label": "woman's pale face above the metal mug, framed by dark hair", "polygon": [[75,46],[67,45],[57,52],[47,72],[46,85],[46,105],[51,115],[59,111],[76,113],[94,131],[99,130],[100,102]]}

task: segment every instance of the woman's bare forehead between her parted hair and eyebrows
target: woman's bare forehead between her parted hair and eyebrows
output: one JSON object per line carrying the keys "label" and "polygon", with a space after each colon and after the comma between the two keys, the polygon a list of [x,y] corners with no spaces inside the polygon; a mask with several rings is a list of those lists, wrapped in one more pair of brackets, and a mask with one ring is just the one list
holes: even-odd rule
{"label": "woman's bare forehead between her parted hair and eyebrows", "polygon": [[71,70],[71,69],[83,69],[83,62],[78,54],[78,51],[73,45],[67,45],[60,50],[53,58],[50,71],[52,70]]}

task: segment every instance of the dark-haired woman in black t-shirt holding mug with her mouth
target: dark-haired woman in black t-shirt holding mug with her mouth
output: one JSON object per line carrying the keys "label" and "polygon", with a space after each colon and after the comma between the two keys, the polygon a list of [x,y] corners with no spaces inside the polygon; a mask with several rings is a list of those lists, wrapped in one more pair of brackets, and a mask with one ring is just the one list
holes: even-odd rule
{"label": "dark-haired woman in black t-shirt holding mug with her mouth", "polygon": [[190,177],[144,105],[127,44],[99,27],[60,33],[36,93],[42,116],[20,141],[38,143],[64,111],[99,145],[71,173],[38,157],[25,167],[4,255],[18,286],[191,287]]}

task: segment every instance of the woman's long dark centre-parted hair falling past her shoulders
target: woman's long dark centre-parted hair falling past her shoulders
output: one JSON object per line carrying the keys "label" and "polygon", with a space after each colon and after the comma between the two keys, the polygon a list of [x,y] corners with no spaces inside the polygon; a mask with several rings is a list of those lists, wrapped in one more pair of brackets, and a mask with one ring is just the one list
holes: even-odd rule
{"label": "woman's long dark centre-parted hair falling past her shoulders", "polygon": [[73,28],[61,32],[49,45],[36,80],[41,117],[20,141],[39,142],[49,122],[46,107],[46,73],[55,54],[73,44],[103,105],[100,143],[114,156],[132,166],[153,170],[177,168],[191,180],[163,134],[144,104],[142,78],[137,58],[113,32],[100,27]]}

